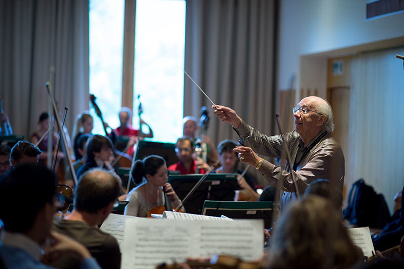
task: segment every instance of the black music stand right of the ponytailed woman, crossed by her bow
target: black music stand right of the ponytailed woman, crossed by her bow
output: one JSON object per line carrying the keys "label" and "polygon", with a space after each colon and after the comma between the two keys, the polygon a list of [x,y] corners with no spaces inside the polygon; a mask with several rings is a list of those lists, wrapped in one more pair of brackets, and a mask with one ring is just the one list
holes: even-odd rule
{"label": "black music stand right of the ponytailed woman, crossed by her bow", "polygon": [[[178,198],[181,200],[189,190],[203,176],[202,174],[171,175],[168,182],[173,187]],[[195,190],[185,203],[185,211],[192,214],[200,214],[205,200],[232,201],[234,191],[238,190],[237,174],[211,174]]]}

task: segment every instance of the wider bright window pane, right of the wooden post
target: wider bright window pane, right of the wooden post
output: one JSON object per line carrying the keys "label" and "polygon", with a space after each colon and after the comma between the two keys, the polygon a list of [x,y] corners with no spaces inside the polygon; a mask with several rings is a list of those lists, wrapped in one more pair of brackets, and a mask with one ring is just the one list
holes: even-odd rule
{"label": "wider bright window pane, right of the wooden post", "polygon": [[154,141],[175,142],[182,135],[184,46],[184,0],[136,1],[133,125],[139,124],[140,94]]}

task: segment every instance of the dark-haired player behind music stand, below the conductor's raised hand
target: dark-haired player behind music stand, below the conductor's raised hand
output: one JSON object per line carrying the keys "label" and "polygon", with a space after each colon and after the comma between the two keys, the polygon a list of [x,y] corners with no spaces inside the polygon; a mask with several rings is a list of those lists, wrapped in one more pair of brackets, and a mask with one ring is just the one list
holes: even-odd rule
{"label": "dark-haired player behind music stand, below the conductor's raised hand", "polygon": [[[219,160],[221,167],[216,170],[216,173],[237,173],[242,174],[242,170],[237,169],[238,154],[233,151],[233,148],[239,144],[233,140],[223,140],[218,145]],[[242,188],[240,190],[239,199],[257,201],[260,195],[256,192],[254,179],[247,173],[238,180],[238,184]]]}

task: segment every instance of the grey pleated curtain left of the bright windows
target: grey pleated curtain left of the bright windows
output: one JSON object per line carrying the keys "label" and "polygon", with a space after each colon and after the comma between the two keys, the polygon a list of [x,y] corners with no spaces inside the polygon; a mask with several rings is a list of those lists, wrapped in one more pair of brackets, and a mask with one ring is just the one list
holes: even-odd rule
{"label": "grey pleated curtain left of the bright windows", "polygon": [[0,98],[14,133],[29,134],[48,110],[51,79],[66,126],[88,109],[88,0],[0,1]]}

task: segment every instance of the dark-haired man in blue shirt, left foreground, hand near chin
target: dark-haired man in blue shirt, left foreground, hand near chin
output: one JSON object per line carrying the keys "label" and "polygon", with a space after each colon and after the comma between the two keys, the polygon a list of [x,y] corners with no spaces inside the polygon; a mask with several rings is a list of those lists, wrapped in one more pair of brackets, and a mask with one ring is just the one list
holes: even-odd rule
{"label": "dark-haired man in blue shirt, left foreground, hand near chin", "polygon": [[[40,165],[21,165],[0,179],[0,219],[6,230],[0,256],[6,268],[54,268],[41,262],[43,250],[48,258],[74,253],[81,268],[100,268],[82,244],[51,232],[53,214],[60,206],[55,191],[55,174]],[[31,198],[16,199],[16,193]],[[18,213],[16,208],[25,210]]]}

